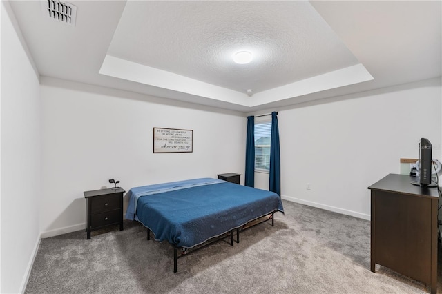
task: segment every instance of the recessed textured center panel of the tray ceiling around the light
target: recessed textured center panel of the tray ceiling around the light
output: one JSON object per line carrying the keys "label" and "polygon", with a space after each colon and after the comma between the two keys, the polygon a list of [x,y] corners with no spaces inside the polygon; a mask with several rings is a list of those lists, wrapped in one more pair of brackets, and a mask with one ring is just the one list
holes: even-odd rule
{"label": "recessed textured center panel of the tray ceiling around the light", "polygon": [[108,55],[243,93],[358,63],[307,1],[130,1]]}

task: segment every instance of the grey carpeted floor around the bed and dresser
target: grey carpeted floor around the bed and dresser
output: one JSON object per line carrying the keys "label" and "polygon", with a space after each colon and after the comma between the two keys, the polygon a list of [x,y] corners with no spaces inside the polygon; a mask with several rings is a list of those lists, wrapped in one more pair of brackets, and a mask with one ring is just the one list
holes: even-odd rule
{"label": "grey carpeted floor around the bed and dresser", "polygon": [[137,222],[90,240],[84,231],[42,239],[26,293],[428,293],[387,268],[369,270],[368,221],[284,207],[274,227],[258,224],[240,244],[221,241],[178,259],[175,274],[171,246],[147,241]]}

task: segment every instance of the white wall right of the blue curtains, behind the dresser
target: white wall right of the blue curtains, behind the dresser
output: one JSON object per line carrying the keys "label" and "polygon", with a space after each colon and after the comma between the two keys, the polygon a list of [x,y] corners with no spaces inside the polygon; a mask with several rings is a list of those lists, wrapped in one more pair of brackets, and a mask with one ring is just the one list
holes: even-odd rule
{"label": "white wall right of the blue curtains, behind the dresser", "polygon": [[282,197],[369,219],[367,187],[417,158],[421,137],[441,159],[441,97],[437,78],[279,110]]}

